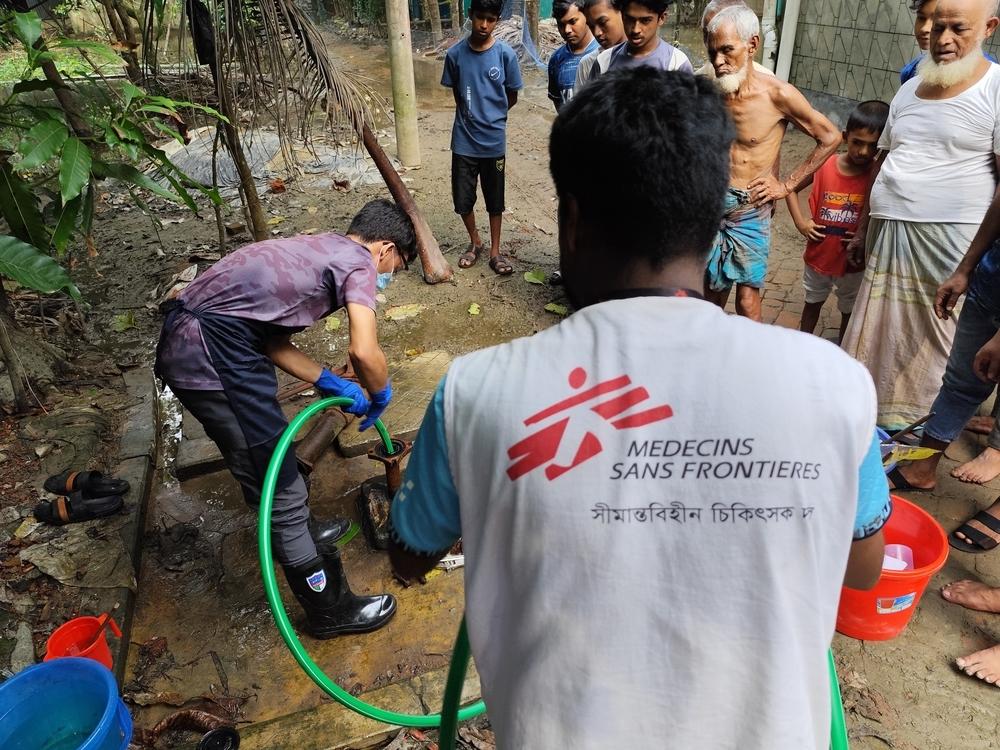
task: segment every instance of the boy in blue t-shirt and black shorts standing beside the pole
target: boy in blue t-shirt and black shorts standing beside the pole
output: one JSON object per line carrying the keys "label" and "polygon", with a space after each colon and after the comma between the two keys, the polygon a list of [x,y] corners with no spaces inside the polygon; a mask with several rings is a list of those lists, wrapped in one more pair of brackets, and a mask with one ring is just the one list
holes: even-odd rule
{"label": "boy in blue t-shirt and black shorts standing beside the pole", "polygon": [[509,276],[514,268],[510,258],[500,252],[507,111],[517,103],[517,92],[524,84],[514,50],[493,37],[502,7],[503,0],[472,0],[472,31],[448,50],[441,85],[455,94],[451,196],[455,213],[469,232],[469,249],[459,256],[458,265],[471,267],[483,251],[472,212],[478,177],[490,215],[490,268],[500,276]]}

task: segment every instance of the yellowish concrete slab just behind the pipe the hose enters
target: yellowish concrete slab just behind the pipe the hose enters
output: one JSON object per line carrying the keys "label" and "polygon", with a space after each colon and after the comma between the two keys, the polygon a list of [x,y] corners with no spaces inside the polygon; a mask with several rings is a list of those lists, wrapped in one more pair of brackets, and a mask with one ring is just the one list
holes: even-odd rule
{"label": "yellowish concrete slab just behind the pipe the hose enters", "polygon": [[[427,404],[450,364],[451,355],[437,350],[418,354],[390,368],[393,398],[382,415],[382,421],[393,437],[413,440],[417,436]],[[374,430],[358,432],[349,428],[338,436],[337,447],[345,456],[360,456],[378,442],[378,434]]]}

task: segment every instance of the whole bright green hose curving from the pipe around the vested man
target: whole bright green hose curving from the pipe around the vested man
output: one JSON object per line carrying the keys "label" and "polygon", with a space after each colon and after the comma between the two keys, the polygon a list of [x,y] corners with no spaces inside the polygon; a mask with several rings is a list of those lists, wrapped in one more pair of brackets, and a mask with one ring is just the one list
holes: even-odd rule
{"label": "whole bright green hose curving from the pipe around the vested man", "polygon": [[[326,676],[326,673],[312,660],[305,650],[292,623],[285,612],[285,605],[281,602],[281,592],[278,590],[278,581],[274,575],[274,558],[271,555],[271,507],[274,503],[274,491],[278,483],[278,472],[281,464],[285,460],[285,454],[291,446],[295,436],[298,435],[302,426],[312,419],[318,412],[331,407],[346,406],[351,403],[348,398],[324,398],[314,404],[307,406],[301,413],[296,415],[291,424],[278,440],[278,445],[274,449],[271,463],[268,464],[267,474],[264,476],[264,488],[260,496],[260,519],[257,522],[257,542],[260,546],[260,569],[264,578],[264,593],[267,596],[267,603],[274,615],[274,622],[278,626],[285,645],[292,652],[295,661],[299,663],[302,670],[315,682],[327,695],[341,705],[351,709],[355,713],[366,716],[375,721],[385,724],[395,724],[397,726],[408,727],[441,727],[439,743],[441,750],[451,750],[455,747],[455,731],[459,721],[479,716],[486,710],[486,705],[482,701],[477,701],[471,706],[459,709],[461,700],[462,685],[465,682],[465,672],[469,663],[469,636],[465,629],[465,618],[458,629],[458,637],[455,639],[455,650],[451,657],[451,666],[448,668],[448,680],[444,689],[444,705],[440,714],[401,714],[395,711],[385,711],[381,708],[365,703],[363,700],[355,698],[337,683]],[[382,420],[375,420],[375,430],[382,438],[382,444],[386,452],[390,455],[394,452],[392,438],[389,437],[388,430],[382,424]],[[844,707],[840,697],[840,685],[837,682],[837,666],[833,661],[833,650],[828,654],[829,674],[830,674],[830,702],[832,704],[832,726],[830,729],[830,750],[848,750],[847,747],[847,725],[844,720]],[[443,717],[443,718],[442,718]]]}

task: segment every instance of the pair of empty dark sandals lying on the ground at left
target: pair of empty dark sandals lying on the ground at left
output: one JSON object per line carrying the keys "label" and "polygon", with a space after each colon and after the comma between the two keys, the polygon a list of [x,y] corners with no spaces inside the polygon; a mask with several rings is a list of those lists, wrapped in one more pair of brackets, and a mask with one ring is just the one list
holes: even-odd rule
{"label": "pair of empty dark sandals lying on the ground at left", "polygon": [[66,470],[45,480],[42,485],[55,500],[35,506],[34,516],[42,523],[65,526],[114,515],[125,507],[129,483],[105,476],[99,471]]}

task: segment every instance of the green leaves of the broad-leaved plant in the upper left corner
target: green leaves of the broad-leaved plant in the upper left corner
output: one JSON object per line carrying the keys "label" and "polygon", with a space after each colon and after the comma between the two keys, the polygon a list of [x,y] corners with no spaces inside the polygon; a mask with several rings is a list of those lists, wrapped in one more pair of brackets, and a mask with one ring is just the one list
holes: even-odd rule
{"label": "green leaves of the broad-leaved plant in the upper left corner", "polygon": [[[85,132],[74,128],[67,113],[59,106],[38,104],[36,92],[53,91],[60,85],[36,78],[54,54],[78,50],[101,60],[116,59],[114,50],[97,42],[75,39],[52,39],[42,43],[42,23],[38,15],[9,13],[0,20],[4,31],[23,47],[23,66],[10,93],[0,102],[0,128],[13,140],[13,153],[0,152],[0,216],[10,235],[37,255],[61,257],[76,235],[89,237],[94,216],[95,184],[115,179],[129,189],[143,188],[156,195],[197,210],[189,186],[191,181],[163,152],[153,145],[153,134],[183,142],[179,124],[182,112],[198,111],[219,118],[209,107],[155,96],[131,83],[120,88],[91,71],[82,77],[92,91],[105,98],[105,106],[86,117]],[[147,174],[136,164],[151,163],[154,174]],[[220,202],[214,188],[194,186],[215,203]],[[48,198],[48,205],[42,202]],[[47,221],[46,218],[49,218]],[[10,237],[8,235],[8,238]],[[0,237],[2,238],[2,237]],[[7,246],[0,246],[0,253]],[[26,253],[23,246],[20,252]],[[0,273],[38,291],[35,277],[19,276],[22,264],[6,264],[0,259]],[[65,288],[58,286],[56,289]],[[75,287],[74,287],[75,288]]]}

